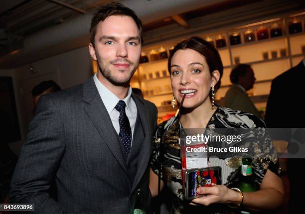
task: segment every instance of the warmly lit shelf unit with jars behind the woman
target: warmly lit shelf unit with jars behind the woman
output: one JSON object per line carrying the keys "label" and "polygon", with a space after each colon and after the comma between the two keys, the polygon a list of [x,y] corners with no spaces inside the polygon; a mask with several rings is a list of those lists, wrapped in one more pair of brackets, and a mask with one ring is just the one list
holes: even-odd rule
{"label": "warmly lit shelf unit with jars behind the woman", "polygon": [[[282,26],[283,35],[263,40],[257,40],[256,32],[262,25],[261,22],[236,26],[209,34],[205,32],[196,34],[202,38],[210,37],[214,39],[218,35],[222,35],[226,40],[227,46],[218,49],[224,65],[224,72],[221,79],[221,88],[216,93],[217,101],[221,102],[221,99],[231,86],[229,75],[231,70],[236,66],[235,61],[238,60],[239,63],[251,64],[257,81],[253,89],[248,91],[248,93],[251,95],[251,99],[255,105],[259,109],[264,110],[272,80],[289,68],[296,66],[305,57],[305,13],[301,13],[298,16],[302,20],[302,32],[289,34],[289,24],[292,18],[291,16],[285,16],[264,21],[263,25],[268,27],[269,36],[270,26],[275,22]],[[249,28],[255,33],[256,39],[255,41],[245,43],[243,33]],[[229,36],[233,32],[240,33],[241,44],[230,44]],[[193,35],[187,37],[191,36]],[[142,90],[145,99],[159,107],[159,117],[162,117],[166,113],[174,113],[175,111],[163,105],[166,101],[168,103],[172,98],[170,79],[167,73],[167,59],[151,61],[149,54],[151,50],[157,50],[162,47],[162,49],[166,49],[169,55],[169,48],[181,40],[183,38],[159,42],[158,44],[144,47],[143,52],[146,53],[150,61],[139,65],[136,76],[131,83],[132,87],[137,87]],[[266,58],[266,56],[268,57]],[[158,75],[156,75],[157,72],[159,73]],[[144,75],[146,75],[147,79],[143,78]]]}

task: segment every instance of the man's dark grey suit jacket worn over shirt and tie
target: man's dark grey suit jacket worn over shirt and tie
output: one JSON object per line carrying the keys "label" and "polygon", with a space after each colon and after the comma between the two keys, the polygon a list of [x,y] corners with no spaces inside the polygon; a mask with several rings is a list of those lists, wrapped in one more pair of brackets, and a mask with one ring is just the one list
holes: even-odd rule
{"label": "man's dark grey suit jacket worn over shirt and tie", "polygon": [[[35,213],[41,214],[128,214],[132,193],[142,189],[149,204],[157,109],[135,94],[132,98],[138,115],[127,157],[93,78],[42,96],[13,174],[9,202],[34,203]],[[57,201],[48,194],[54,179]]]}

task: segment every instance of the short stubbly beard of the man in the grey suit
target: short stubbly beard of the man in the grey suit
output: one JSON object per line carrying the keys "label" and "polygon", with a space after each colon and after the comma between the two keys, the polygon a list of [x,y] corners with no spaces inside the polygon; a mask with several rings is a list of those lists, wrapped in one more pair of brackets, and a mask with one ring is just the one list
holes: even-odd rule
{"label": "short stubbly beard of the man in the grey suit", "polygon": [[[110,61],[110,64],[114,64],[114,63],[117,63],[118,61],[117,60],[113,60],[113,61]],[[124,60],[123,62],[122,61],[119,61],[121,63],[128,63],[130,64],[131,66],[134,65],[134,63],[132,63],[131,61],[129,60]],[[109,69],[109,67],[107,67],[106,65],[103,65],[100,60],[97,61],[98,63],[98,66],[99,66],[99,70],[101,71],[101,74],[111,83],[113,84],[114,86],[123,86],[123,87],[127,87],[129,86],[129,83],[130,83],[130,80],[132,78],[132,76],[134,75],[134,73],[136,72],[137,70],[137,66],[135,66],[132,70],[132,72],[130,73],[130,75],[128,77],[126,77],[125,79],[123,80],[119,80],[118,78],[116,78],[115,76],[112,75],[112,71]],[[120,70],[119,70],[120,71]],[[122,69],[122,72],[124,72],[124,69]]]}

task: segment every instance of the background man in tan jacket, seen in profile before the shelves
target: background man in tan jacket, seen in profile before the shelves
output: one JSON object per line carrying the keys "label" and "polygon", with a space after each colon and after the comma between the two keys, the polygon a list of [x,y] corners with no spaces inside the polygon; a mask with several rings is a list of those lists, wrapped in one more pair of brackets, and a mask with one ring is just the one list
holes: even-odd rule
{"label": "background man in tan jacket, seen in profile before the shelves", "polygon": [[232,86],[227,91],[222,105],[236,110],[241,110],[261,117],[260,112],[250,100],[247,91],[253,88],[255,76],[250,65],[239,64],[231,74]]}

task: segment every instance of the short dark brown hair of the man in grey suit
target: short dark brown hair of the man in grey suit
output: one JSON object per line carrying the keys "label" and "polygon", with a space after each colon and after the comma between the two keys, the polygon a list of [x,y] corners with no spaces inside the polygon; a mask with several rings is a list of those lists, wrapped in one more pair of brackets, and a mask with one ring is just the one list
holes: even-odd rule
{"label": "short dark brown hair of the man in grey suit", "polygon": [[92,43],[93,47],[95,47],[94,37],[96,34],[96,28],[98,23],[100,23],[100,21],[104,21],[107,17],[111,15],[126,15],[132,17],[138,26],[141,43],[143,44],[141,19],[136,15],[136,13],[132,9],[124,6],[121,3],[112,2],[100,6],[99,8],[97,8],[97,11],[93,14],[91,20],[91,26],[90,26],[90,42]]}

